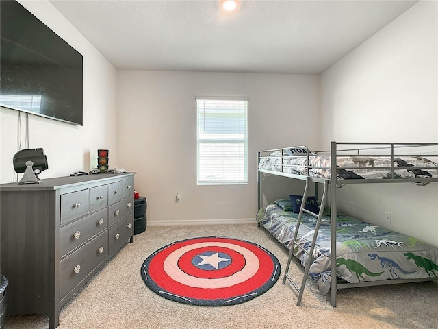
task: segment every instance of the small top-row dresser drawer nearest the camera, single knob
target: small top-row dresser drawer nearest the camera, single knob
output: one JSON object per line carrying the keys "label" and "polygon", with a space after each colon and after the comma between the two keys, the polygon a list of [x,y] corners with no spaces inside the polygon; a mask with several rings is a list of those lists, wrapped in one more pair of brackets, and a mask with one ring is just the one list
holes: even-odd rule
{"label": "small top-row dresser drawer nearest the camera, single knob", "polygon": [[61,195],[61,224],[88,214],[88,189]]}

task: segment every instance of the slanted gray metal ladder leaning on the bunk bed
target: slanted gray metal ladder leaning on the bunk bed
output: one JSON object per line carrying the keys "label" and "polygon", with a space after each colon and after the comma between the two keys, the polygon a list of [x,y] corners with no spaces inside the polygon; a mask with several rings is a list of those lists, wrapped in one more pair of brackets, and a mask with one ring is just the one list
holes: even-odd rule
{"label": "slanted gray metal ladder leaning on the bunk bed", "polygon": [[[302,202],[301,202],[301,206],[300,206],[300,213],[298,214],[298,221],[296,223],[294,239],[292,239],[292,246],[291,246],[291,249],[289,251],[289,258],[287,259],[285,275],[283,277],[283,284],[286,284],[286,279],[287,279],[292,284],[292,286],[296,289],[296,291],[299,292],[298,300],[296,302],[296,304],[298,306],[300,306],[300,304],[301,304],[302,294],[304,293],[304,289],[305,289],[305,285],[306,285],[306,281],[307,281],[307,276],[309,276],[309,268],[310,268],[311,263],[313,263],[313,249],[315,249],[316,238],[318,237],[318,231],[320,230],[320,223],[321,223],[321,219],[322,219],[322,214],[324,213],[324,206],[326,204],[326,199],[327,199],[327,190],[328,190],[328,186],[329,186],[329,180],[324,180],[324,192],[322,193],[321,206],[320,206],[320,211],[318,212],[318,214],[315,214],[314,212],[311,212],[311,211],[305,209],[305,205],[306,205],[305,200],[307,199],[307,191],[309,190],[309,183],[310,183],[310,179],[309,179],[309,177],[307,177],[306,178],[306,187],[305,187],[305,190],[304,190],[304,194],[302,195]],[[313,239],[311,241],[311,247],[310,247],[309,250],[303,248],[296,241],[296,238],[298,236],[298,230],[300,229],[300,223],[301,223],[301,218],[302,218],[303,212],[306,212],[307,214],[313,215],[314,217],[318,218],[317,221],[316,221],[315,232],[313,233]],[[302,238],[302,239],[304,239],[304,238]],[[301,249],[302,252],[305,252],[309,256],[307,258],[307,263],[306,263],[306,266],[305,266],[304,276],[302,277],[302,282],[301,282],[301,287],[300,288],[298,288],[298,284],[296,284],[296,282],[294,282],[294,280],[292,280],[292,278],[288,274],[289,273],[290,263],[292,261],[292,257],[294,257],[294,248],[295,248],[295,246],[298,247],[298,249]]]}

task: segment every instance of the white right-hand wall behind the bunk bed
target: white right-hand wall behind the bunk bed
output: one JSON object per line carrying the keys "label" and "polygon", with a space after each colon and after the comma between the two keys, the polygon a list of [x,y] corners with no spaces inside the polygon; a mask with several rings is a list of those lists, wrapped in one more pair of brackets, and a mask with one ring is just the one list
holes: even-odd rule
{"label": "white right-hand wall behind the bunk bed", "polygon": [[[437,1],[420,1],[321,76],[322,145],[438,142]],[[346,186],[340,208],[438,246],[438,184]],[[391,213],[391,223],[383,218]]]}

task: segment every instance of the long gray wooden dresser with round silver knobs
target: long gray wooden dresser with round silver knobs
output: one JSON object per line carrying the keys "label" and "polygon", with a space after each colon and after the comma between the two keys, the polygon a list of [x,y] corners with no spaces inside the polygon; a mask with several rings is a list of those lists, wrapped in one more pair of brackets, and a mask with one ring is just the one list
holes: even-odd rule
{"label": "long gray wooden dresser with round silver knobs", "polygon": [[134,173],[0,185],[1,273],[8,313],[60,308],[128,241],[133,243]]}

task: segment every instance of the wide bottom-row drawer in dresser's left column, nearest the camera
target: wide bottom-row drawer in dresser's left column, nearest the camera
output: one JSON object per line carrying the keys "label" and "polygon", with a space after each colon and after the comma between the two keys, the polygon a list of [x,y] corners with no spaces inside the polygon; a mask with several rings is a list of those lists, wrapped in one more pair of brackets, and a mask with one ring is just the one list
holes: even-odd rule
{"label": "wide bottom-row drawer in dresser's left column, nearest the camera", "polygon": [[60,262],[60,300],[90,274],[108,255],[107,230]]}

